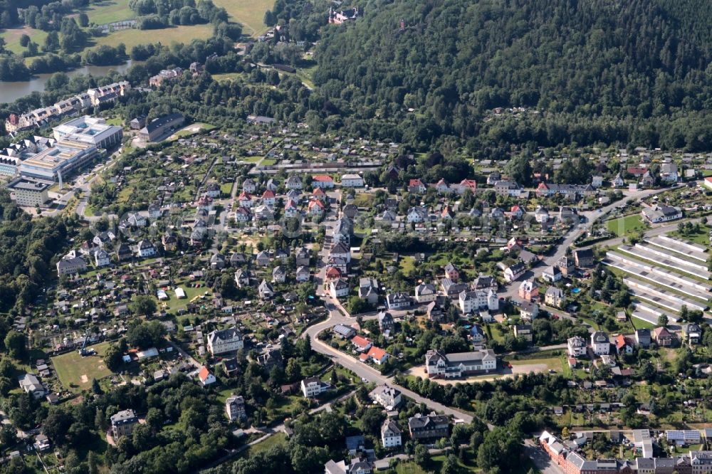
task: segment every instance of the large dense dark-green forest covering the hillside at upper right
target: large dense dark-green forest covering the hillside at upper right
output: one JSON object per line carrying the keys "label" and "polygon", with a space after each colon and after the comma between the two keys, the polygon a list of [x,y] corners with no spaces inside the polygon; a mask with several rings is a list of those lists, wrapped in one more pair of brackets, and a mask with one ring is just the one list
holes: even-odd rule
{"label": "large dense dark-green forest covering the hillside at upper right", "polygon": [[417,147],[710,149],[711,15],[702,0],[369,2],[322,29],[313,78],[350,130]]}

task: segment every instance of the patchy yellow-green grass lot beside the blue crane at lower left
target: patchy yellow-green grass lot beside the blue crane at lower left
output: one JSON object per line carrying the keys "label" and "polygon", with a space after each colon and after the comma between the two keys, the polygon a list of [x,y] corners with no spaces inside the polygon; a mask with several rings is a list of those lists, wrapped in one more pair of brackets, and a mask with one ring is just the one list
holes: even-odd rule
{"label": "patchy yellow-green grass lot beside the blue crane at lower left", "polygon": [[105,367],[102,359],[108,347],[108,342],[91,346],[98,353],[95,356],[81,357],[79,352],[72,351],[53,357],[52,363],[62,385],[70,391],[79,392],[90,389],[92,379],[110,376],[111,371]]}

